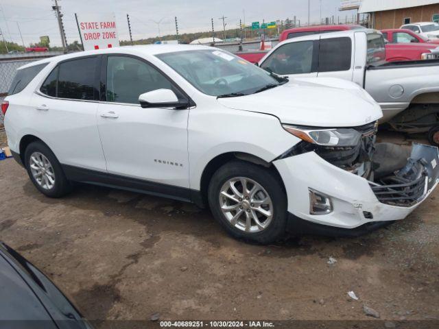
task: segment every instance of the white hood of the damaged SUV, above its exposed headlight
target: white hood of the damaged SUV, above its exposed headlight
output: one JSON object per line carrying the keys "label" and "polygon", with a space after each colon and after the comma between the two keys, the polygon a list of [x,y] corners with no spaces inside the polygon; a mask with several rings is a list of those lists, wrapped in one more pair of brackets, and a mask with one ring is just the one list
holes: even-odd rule
{"label": "white hood of the damaged SUV, above its exposed headlight", "polygon": [[313,127],[355,127],[383,116],[365,90],[331,77],[294,78],[261,93],[218,102],[236,110],[272,114],[282,123]]}

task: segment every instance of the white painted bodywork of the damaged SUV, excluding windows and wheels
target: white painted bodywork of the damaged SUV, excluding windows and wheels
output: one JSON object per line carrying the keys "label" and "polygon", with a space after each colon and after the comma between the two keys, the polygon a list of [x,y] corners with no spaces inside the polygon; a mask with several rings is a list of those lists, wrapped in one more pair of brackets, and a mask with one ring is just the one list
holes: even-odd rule
{"label": "white painted bodywork of the damaged SUV, excluding windows and wheels", "polygon": [[[12,151],[19,153],[23,136],[32,134],[45,142],[63,165],[192,191],[200,191],[204,169],[213,159],[248,154],[274,164],[286,189],[289,212],[338,228],[402,219],[416,208],[381,204],[364,178],[335,167],[313,151],[279,159],[301,141],[284,130],[283,123],[355,127],[381,118],[379,105],[357,84],[304,76],[261,93],[217,98],[202,93],[154,56],[192,49],[214,50],[181,45],[120,47],[40,61],[50,64],[21,93],[6,98],[10,108],[5,127]],[[141,108],[137,104],[40,95],[41,84],[58,62],[96,53],[122,53],[150,61],[196,106],[185,110]],[[49,110],[36,110],[43,105]],[[329,215],[309,215],[308,188],[331,195],[335,210]],[[373,211],[374,219],[365,219],[363,210]]]}

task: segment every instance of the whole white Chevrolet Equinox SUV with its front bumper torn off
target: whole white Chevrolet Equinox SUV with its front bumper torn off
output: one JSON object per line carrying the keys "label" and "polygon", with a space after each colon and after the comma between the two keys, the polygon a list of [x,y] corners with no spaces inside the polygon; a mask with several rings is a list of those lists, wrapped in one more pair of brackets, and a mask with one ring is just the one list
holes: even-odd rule
{"label": "whole white Chevrolet Equinox SUV with its front bumper torn off", "polygon": [[382,112],[359,86],[287,82],[210,47],[33,62],[1,108],[14,158],[41,193],[60,197],[78,181],[194,202],[259,243],[287,230],[364,232],[403,219],[437,184],[436,147],[414,147],[406,164],[403,151],[375,145]]}

